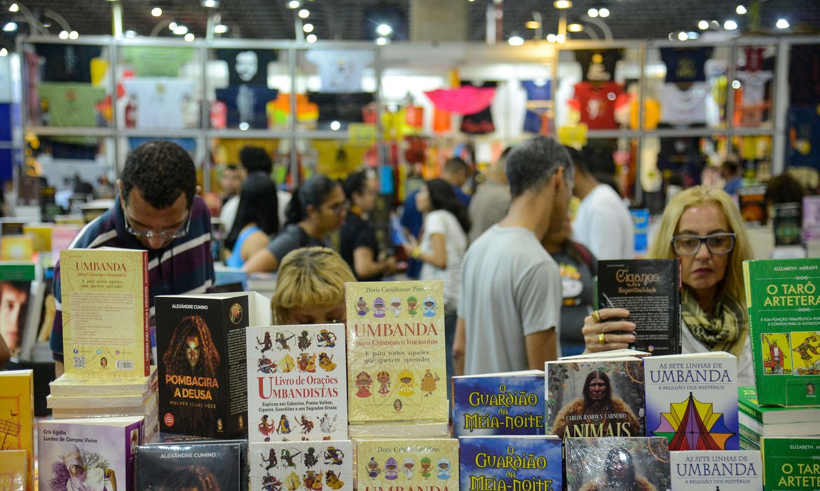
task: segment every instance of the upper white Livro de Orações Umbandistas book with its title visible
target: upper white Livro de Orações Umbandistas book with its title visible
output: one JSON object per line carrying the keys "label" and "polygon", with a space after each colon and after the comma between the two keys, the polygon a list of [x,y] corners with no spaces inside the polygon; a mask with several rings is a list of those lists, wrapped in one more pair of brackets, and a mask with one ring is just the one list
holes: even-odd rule
{"label": "upper white Livro de Ora\u00e7\u00f5es Umbandistas book with its title visible", "polygon": [[344,324],[246,331],[248,441],[348,438]]}

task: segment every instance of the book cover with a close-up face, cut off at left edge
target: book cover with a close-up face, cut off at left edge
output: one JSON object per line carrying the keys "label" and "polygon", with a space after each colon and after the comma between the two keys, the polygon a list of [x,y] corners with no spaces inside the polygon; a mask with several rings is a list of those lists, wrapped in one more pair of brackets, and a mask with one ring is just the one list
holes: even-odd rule
{"label": "book cover with a close-up face, cut off at left edge", "polygon": [[37,337],[34,316],[30,315],[35,270],[34,263],[0,262],[0,336],[11,356],[24,359],[30,355],[24,346],[33,345],[34,337]]}

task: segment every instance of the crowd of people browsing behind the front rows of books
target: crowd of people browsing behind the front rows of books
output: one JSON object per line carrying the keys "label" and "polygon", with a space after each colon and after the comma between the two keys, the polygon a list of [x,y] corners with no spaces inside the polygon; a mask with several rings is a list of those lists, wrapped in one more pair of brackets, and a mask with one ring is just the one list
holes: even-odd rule
{"label": "crowd of people browsing behind the front rows of books", "polygon": [[[467,163],[451,158],[442,178],[425,181],[404,203],[403,247],[417,269],[405,269],[376,238],[371,171],[344,182],[315,175],[290,195],[277,190],[263,149],[239,156],[221,180],[225,264],[277,273],[275,324],[344,322],[345,282],[409,277],[444,282],[448,375],[543,369],[558,356],[635,340],[628,310],[592,308],[597,260],[635,252],[629,210],[589,154],[536,136],[506,149],[473,195],[462,190]],[[798,193],[781,180],[772,200]],[[148,272],[152,305],[156,295],[212,291],[211,225],[189,154],[166,141],[141,145],[116,186],[112,209],[72,246],[148,250],[156,259]],[[580,205],[571,222],[572,195]],[[339,253],[330,246],[337,231]],[[649,258],[681,260],[683,352],[728,351],[738,358],[740,383],[751,382],[742,262],[752,253],[731,196],[707,186],[677,193],[651,244]],[[58,300],[59,278],[57,266]],[[57,361],[61,328],[58,310]]]}

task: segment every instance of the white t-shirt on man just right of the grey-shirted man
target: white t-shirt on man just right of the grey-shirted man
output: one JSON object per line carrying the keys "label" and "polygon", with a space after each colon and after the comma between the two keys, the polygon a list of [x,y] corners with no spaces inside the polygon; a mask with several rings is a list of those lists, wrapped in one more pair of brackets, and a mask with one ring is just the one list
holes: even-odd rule
{"label": "white t-shirt on man just right of the grey-shirted man", "polygon": [[572,236],[598,259],[635,257],[632,216],[621,196],[606,184],[599,184],[581,200]]}

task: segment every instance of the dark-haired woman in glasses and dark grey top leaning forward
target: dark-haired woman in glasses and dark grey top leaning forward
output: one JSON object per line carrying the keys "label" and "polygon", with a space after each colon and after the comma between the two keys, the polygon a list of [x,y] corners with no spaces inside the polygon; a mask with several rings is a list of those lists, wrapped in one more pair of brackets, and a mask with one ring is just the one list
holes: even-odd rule
{"label": "dark-haired woman in glasses and dark grey top leaning forward", "polygon": [[304,181],[291,198],[288,223],[267,246],[243,265],[248,273],[272,272],[291,250],[310,246],[329,246],[327,234],[339,230],[348,212],[348,202],[338,182],[325,176]]}

